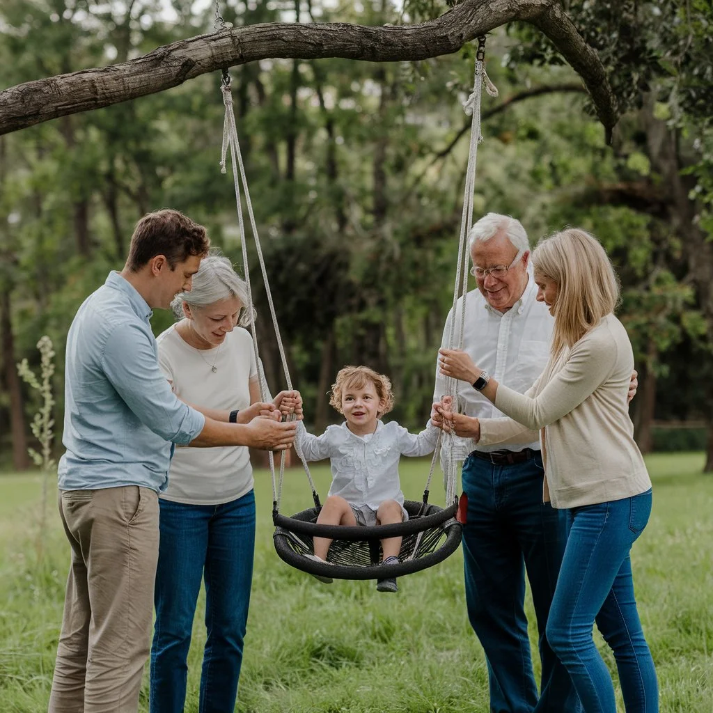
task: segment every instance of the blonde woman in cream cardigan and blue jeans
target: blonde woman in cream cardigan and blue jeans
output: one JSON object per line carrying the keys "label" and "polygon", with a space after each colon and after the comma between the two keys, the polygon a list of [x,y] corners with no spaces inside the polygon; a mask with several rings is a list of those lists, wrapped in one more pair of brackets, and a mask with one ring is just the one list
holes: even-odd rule
{"label": "blonde woman in cream cardigan and blue jeans", "polygon": [[555,318],[545,370],[518,394],[465,352],[441,349],[441,373],[473,384],[510,418],[478,421],[441,409],[434,422],[488,444],[532,440],[532,431],[539,432],[544,499],[568,511],[569,525],[547,623],[550,647],[585,713],[616,713],[612,679],[593,641],[596,621],[614,652],[627,713],[655,713],[656,672],[629,556],[649,519],[651,481],[627,409],[634,358],[613,314],[617,278],[602,246],[584,230],[543,240],[532,261],[537,299]]}

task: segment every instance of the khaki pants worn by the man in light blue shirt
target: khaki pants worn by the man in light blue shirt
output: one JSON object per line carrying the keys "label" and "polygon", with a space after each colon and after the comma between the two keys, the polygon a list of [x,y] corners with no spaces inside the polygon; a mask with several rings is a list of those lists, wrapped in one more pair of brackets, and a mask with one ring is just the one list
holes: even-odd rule
{"label": "khaki pants worn by the man in light blue shirt", "polygon": [[63,491],[72,562],[49,713],[136,713],[158,560],[158,496],[123,486]]}

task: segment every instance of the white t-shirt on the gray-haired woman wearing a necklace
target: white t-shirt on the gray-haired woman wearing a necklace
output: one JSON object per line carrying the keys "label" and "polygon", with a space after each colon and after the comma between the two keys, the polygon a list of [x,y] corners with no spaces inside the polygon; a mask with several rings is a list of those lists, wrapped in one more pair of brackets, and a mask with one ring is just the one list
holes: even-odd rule
{"label": "white t-shirt on the gray-haired woman wearing a necklace", "polygon": [[[236,327],[220,347],[195,349],[173,324],[156,342],[158,364],[180,399],[225,411],[250,406],[250,380],[257,379],[250,332]],[[242,498],[252,485],[250,453],[245,446],[189,446],[175,449],[168,488],[161,497],[175,503],[220,505]]]}

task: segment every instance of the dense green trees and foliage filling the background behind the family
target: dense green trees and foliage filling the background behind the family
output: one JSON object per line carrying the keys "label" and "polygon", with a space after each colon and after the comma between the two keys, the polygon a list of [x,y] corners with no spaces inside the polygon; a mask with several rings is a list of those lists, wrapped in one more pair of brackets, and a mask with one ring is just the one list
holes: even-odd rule
{"label": "dense green trees and foliage filling the background behind the family", "polygon": [[[188,0],[173,0],[170,12],[164,5],[6,0],[0,86],[123,61],[212,29],[213,9],[195,14]],[[569,223],[605,243],[642,373],[636,422],[647,447],[654,418],[713,419],[706,61],[713,11],[702,0],[563,5],[600,51],[625,110],[613,145],[551,46],[526,27],[502,29],[488,39],[488,73],[501,98],[483,104],[475,211],[519,217],[533,242]],[[424,0],[254,0],[231,1],[223,16],[246,24],[396,24],[445,10]],[[272,60],[232,72],[292,379],[317,428],[336,416],[325,394],[347,363],[390,374],[395,418],[411,426],[426,419],[453,289],[467,158],[461,103],[472,63],[466,47],[417,64]],[[51,336],[61,413],[66,330],[84,297],[123,265],[140,215],[166,205],[183,210],[240,260],[232,182],[218,168],[219,82],[203,76],[0,137],[0,453],[9,459],[12,443],[16,465],[25,451],[18,414],[34,404],[14,364],[23,357],[36,364],[36,342]],[[260,282],[256,263],[251,275]],[[277,387],[277,349],[256,288],[262,357]],[[157,332],[169,322],[168,313],[155,314]]]}

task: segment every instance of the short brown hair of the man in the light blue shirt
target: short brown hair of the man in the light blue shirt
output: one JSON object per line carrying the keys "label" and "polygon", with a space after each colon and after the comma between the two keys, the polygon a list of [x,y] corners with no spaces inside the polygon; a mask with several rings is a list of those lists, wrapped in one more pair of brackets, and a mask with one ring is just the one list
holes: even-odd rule
{"label": "short brown hair of the man in the light blue shirt", "polygon": [[127,265],[137,272],[156,255],[165,255],[171,270],[193,255],[206,255],[210,247],[205,227],[178,210],[163,208],[144,215],[131,236]]}

